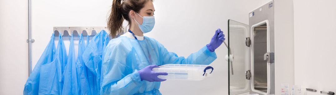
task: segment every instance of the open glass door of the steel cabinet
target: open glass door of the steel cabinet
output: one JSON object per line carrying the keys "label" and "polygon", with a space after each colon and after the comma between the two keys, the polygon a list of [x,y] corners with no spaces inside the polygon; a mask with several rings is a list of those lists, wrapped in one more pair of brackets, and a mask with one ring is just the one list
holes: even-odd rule
{"label": "open glass door of the steel cabinet", "polygon": [[[249,26],[234,20],[228,20],[228,69],[229,95],[250,91],[250,81],[246,72],[250,69]],[[249,41],[248,41],[249,42]]]}

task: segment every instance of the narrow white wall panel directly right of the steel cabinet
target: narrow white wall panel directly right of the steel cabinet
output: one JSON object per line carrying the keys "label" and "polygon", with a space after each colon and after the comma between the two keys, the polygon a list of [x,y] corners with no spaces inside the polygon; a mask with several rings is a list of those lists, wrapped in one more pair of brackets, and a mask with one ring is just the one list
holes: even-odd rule
{"label": "narrow white wall panel directly right of the steel cabinet", "polygon": [[294,84],[293,0],[275,0],[275,95],[281,84]]}

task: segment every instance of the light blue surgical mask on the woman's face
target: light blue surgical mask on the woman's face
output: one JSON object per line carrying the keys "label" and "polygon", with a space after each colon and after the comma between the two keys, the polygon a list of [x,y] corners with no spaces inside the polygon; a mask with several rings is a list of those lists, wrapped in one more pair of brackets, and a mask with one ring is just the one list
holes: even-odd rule
{"label": "light blue surgical mask on the woman's face", "polygon": [[[138,13],[136,13],[136,14],[138,14]],[[141,15],[139,15],[139,16],[142,17]],[[154,16],[143,16],[142,18],[143,18],[142,25],[140,25],[138,23],[138,21],[136,21],[135,18],[133,18],[135,20],[135,22],[138,23],[139,28],[142,31],[142,33],[148,33],[150,31],[152,31],[152,29],[154,28],[154,25],[155,25]]]}

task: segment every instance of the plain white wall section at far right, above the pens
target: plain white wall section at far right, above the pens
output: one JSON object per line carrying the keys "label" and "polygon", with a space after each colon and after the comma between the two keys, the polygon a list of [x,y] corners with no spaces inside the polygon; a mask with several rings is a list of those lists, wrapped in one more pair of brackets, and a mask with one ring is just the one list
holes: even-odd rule
{"label": "plain white wall section at far right, above the pens", "polygon": [[335,3],[294,0],[295,84],[302,88],[336,92]]}

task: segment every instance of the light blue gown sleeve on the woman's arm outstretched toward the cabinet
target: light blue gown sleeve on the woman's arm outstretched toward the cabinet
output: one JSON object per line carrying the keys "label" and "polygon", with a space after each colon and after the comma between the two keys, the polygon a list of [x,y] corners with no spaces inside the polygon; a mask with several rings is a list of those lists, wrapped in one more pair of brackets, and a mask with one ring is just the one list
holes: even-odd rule
{"label": "light blue gown sleeve on the woman's arm outstretched toward the cabinet", "polygon": [[174,52],[169,52],[162,44],[158,43],[159,52],[162,58],[162,65],[164,64],[198,64],[209,65],[216,58],[215,52],[210,52],[207,46],[204,46],[199,51],[190,54],[187,58],[183,56],[177,56]]}

